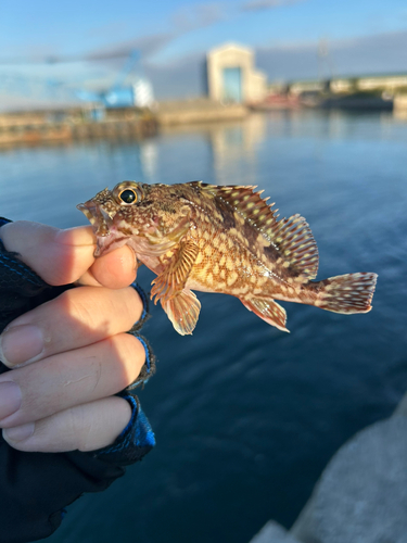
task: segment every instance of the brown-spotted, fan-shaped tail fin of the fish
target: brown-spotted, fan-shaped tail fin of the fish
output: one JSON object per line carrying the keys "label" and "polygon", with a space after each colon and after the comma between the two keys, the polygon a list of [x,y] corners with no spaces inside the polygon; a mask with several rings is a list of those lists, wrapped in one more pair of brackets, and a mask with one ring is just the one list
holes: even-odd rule
{"label": "brown-spotted, fan-shaped tail fin of the fish", "polygon": [[314,305],[334,313],[368,313],[371,310],[377,274],[359,273],[330,277],[315,285]]}

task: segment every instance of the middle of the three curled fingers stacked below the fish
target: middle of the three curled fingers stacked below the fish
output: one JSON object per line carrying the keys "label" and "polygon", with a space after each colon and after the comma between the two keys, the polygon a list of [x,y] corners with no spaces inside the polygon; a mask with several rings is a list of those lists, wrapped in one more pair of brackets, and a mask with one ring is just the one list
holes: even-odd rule
{"label": "middle of the three curled fingers stacked below the fish", "polygon": [[7,399],[0,427],[33,422],[115,394],[137,378],[144,361],[140,341],[119,333],[5,372],[0,377],[0,396]]}

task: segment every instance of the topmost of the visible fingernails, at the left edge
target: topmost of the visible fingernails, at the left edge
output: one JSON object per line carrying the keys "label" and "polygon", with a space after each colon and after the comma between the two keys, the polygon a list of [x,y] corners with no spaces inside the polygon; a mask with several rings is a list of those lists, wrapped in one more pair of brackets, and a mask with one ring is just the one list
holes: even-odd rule
{"label": "topmost of the visible fingernails, at the left edge", "polygon": [[29,362],[43,350],[42,331],[36,326],[21,325],[9,328],[0,337],[0,359],[7,366]]}

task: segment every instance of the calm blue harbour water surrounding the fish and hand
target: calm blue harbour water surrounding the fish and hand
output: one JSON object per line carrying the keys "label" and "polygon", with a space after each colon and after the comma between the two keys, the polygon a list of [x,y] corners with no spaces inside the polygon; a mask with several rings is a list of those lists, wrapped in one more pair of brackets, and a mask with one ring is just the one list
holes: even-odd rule
{"label": "calm blue harbour water surrounding the fish and hand", "polygon": [[[283,304],[283,333],[231,296],[199,294],[192,337],[152,308],[158,358],[140,391],[157,445],[106,492],[68,507],[53,543],[245,543],[289,527],[329,458],[407,390],[407,121],[276,113],[137,142],[0,151],[0,214],[86,224],[75,205],[124,179],[250,184],[318,242],[318,278],[379,274],[374,308]],[[148,290],[152,276],[141,270]]]}

